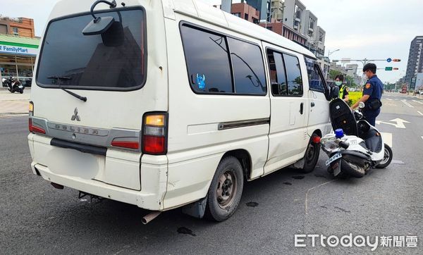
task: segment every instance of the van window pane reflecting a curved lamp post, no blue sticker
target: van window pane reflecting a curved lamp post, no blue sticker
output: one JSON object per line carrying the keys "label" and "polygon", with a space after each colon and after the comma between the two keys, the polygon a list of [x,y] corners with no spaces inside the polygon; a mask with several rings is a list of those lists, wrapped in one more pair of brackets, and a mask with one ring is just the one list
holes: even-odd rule
{"label": "van window pane reflecting a curved lamp post, no blue sticker", "polygon": [[259,46],[228,37],[236,94],[266,94],[262,51]]}

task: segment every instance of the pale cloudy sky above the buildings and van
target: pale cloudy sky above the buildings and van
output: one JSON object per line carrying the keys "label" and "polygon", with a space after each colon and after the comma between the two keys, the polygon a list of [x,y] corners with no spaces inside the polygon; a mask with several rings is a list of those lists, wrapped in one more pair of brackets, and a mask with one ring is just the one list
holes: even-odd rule
{"label": "pale cloudy sky above the buildings and van", "polygon": [[[58,0],[0,1],[0,15],[33,18],[35,35],[41,36],[51,8]],[[221,0],[197,1],[221,4]],[[239,0],[233,2],[236,1]],[[317,16],[317,25],[326,31],[326,55],[328,50],[340,49],[331,54],[331,59],[400,58],[399,63],[375,62],[381,68],[399,68],[391,72],[378,70],[377,74],[383,82],[396,82],[405,75],[410,42],[423,35],[423,0],[301,1]]]}

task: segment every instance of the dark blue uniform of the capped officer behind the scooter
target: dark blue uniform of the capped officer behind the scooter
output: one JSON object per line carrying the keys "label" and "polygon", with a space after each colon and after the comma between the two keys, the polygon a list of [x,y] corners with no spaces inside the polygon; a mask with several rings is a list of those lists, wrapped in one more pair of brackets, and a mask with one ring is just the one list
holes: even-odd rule
{"label": "dark blue uniform of the capped officer behind the scooter", "polygon": [[379,80],[376,75],[373,75],[369,80],[367,80],[366,85],[364,85],[363,96],[365,94],[369,95],[369,99],[365,102],[365,107],[363,108],[364,117],[366,117],[367,121],[370,125],[375,125],[376,117],[381,112],[381,108],[377,110],[371,110],[369,108],[369,101],[372,99],[379,99],[381,100],[382,97],[382,90],[384,90],[384,84]]}

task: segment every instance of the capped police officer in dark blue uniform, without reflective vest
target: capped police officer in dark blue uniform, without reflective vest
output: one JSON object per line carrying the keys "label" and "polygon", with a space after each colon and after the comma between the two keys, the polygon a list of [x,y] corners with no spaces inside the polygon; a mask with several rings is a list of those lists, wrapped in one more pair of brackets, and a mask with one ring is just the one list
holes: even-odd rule
{"label": "capped police officer in dark blue uniform, without reflective vest", "polygon": [[360,101],[364,102],[363,115],[370,125],[374,126],[376,117],[381,112],[381,97],[384,84],[376,76],[376,65],[374,63],[364,65],[363,73],[368,79],[366,85],[364,85],[363,96],[351,108],[355,109],[360,104]]}

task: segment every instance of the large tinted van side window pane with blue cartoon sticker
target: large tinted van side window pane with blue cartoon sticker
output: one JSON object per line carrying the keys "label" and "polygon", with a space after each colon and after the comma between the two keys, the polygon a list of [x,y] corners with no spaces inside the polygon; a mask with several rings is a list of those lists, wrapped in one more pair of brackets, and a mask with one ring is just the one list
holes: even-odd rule
{"label": "large tinted van side window pane with blue cartoon sticker", "polygon": [[195,92],[233,93],[226,38],[183,25],[183,49]]}

